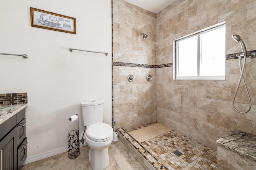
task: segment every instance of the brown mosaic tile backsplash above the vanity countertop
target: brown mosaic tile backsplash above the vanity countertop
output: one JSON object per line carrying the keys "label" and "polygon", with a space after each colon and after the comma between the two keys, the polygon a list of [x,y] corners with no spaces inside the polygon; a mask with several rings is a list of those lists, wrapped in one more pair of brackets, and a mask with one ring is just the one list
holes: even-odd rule
{"label": "brown mosaic tile backsplash above the vanity countertop", "polygon": [[28,93],[0,94],[0,106],[27,104]]}

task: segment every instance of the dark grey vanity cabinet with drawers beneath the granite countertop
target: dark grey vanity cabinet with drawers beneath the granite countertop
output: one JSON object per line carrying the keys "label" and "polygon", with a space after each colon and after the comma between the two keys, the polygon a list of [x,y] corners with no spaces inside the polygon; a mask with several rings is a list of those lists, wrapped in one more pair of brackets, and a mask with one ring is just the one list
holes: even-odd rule
{"label": "dark grey vanity cabinet with drawers beneath the granite countertop", "polygon": [[0,124],[0,170],[18,170],[26,159],[25,108]]}

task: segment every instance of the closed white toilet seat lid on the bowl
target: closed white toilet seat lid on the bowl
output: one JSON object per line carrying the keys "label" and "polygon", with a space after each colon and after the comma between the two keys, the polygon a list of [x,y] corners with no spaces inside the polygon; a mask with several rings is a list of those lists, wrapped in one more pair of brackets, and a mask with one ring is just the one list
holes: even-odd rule
{"label": "closed white toilet seat lid on the bowl", "polygon": [[113,129],[106,123],[96,123],[86,129],[86,135],[93,141],[104,142],[112,137]]}

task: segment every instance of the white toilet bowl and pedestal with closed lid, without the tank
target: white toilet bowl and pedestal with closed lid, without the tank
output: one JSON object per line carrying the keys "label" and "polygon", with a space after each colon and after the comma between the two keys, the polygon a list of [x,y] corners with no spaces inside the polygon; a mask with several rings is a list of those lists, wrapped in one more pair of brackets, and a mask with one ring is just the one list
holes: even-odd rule
{"label": "white toilet bowl and pedestal with closed lid, without the tank", "polygon": [[85,141],[90,147],[89,162],[93,170],[104,170],[109,165],[108,147],[113,140],[113,129],[106,123],[86,128]]}

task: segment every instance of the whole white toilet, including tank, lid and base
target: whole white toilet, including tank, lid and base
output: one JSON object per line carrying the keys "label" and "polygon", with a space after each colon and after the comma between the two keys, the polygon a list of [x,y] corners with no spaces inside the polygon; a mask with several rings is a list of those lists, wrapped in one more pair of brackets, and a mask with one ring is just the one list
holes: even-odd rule
{"label": "whole white toilet, including tank, lid and base", "polygon": [[81,107],[90,165],[93,170],[104,170],[109,165],[108,147],[113,140],[113,128],[102,122],[104,101],[82,102]]}

